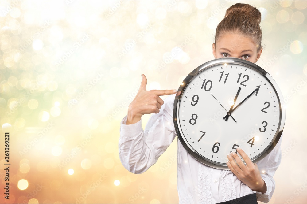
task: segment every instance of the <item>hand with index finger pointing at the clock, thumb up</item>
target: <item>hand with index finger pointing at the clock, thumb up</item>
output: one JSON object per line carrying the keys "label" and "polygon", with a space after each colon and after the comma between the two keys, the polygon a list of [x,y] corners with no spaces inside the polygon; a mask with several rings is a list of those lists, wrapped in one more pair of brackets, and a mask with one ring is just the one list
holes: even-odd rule
{"label": "hand with index finger pointing at the clock, thumb up", "polygon": [[170,95],[177,90],[146,90],[147,79],[142,74],[141,86],[137,95],[128,106],[128,116],[126,124],[134,124],[141,120],[142,115],[150,113],[159,113],[163,100],[159,97],[162,95]]}

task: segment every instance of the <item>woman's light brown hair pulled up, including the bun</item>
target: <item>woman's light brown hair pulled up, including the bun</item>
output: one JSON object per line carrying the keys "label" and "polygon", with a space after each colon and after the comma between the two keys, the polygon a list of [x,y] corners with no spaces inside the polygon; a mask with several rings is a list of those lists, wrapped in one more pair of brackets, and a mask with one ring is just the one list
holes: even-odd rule
{"label": "woman's light brown hair pulled up, including the bun", "polygon": [[259,51],[262,39],[260,22],[261,13],[254,6],[234,4],[227,9],[224,19],[217,25],[215,43],[225,33],[239,33],[253,39]]}

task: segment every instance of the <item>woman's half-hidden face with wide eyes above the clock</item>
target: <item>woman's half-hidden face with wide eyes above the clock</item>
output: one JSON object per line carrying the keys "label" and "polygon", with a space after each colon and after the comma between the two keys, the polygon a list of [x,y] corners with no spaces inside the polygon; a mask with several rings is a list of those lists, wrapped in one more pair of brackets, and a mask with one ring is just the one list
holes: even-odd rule
{"label": "woman's half-hidden face with wide eyes above the clock", "polygon": [[212,44],[213,55],[217,58],[235,57],[255,63],[260,58],[262,48],[257,52],[258,46],[248,37],[240,34],[225,33]]}

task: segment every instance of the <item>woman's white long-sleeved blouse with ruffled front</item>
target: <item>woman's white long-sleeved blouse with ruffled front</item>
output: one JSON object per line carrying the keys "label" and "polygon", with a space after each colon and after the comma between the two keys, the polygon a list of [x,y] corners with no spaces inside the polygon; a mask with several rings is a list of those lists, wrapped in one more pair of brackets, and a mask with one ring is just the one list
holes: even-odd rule
{"label": "woman's white long-sleeved blouse with ruffled front", "polygon": [[[160,112],[152,114],[145,130],[142,121],[126,125],[121,122],[119,157],[130,172],[140,174],[154,165],[173,142],[176,130],[173,124],[173,103],[176,94],[164,100]],[[230,170],[214,169],[194,159],[177,140],[177,189],[179,203],[219,203],[256,193],[257,200],[269,202],[275,189],[274,173],[281,162],[282,137],[275,148],[257,162],[261,177],[266,183],[266,193],[252,191]]]}

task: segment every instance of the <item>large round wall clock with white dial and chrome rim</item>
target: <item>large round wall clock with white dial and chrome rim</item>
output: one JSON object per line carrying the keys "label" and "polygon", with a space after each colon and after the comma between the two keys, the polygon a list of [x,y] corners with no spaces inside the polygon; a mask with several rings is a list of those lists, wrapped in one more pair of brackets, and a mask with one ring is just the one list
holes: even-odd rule
{"label": "large round wall clock with white dial and chrome rim", "polygon": [[173,110],[178,138],[198,161],[218,169],[228,169],[227,154],[237,147],[256,162],[281,136],[281,97],[272,77],[254,63],[209,61],[178,89]]}

